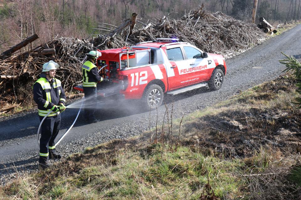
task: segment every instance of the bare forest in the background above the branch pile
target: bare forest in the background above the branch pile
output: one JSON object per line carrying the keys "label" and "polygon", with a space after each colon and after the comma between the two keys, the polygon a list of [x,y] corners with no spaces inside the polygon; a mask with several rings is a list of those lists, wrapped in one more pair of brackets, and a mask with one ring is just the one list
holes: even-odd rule
{"label": "bare forest in the background above the branch pile", "polygon": [[[301,0],[258,0],[256,22],[259,17],[269,22],[284,22],[301,18]],[[251,22],[252,0],[13,0],[0,1],[0,51],[37,34],[33,46],[55,37],[91,39],[103,31],[98,22],[119,26],[138,13],[138,26],[155,17],[182,17],[204,3],[206,10],[224,12],[227,15]],[[99,29],[110,31],[112,26]],[[108,32],[103,32],[108,33]],[[28,45],[23,51],[31,48]]]}

